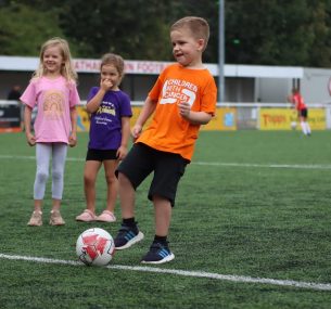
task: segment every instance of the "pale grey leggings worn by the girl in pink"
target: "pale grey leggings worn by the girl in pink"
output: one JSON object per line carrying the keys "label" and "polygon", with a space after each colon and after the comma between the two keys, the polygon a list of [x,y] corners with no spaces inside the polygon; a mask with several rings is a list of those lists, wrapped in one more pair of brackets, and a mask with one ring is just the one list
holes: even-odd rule
{"label": "pale grey leggings worn by the girl in pink", "polygon": [[52,157],[52,198],[62,199],[64,166],[67,144],[37,143],[37,171],[34,185],[34,199],[43,199],[46,183],[49,177],[49,166]]}

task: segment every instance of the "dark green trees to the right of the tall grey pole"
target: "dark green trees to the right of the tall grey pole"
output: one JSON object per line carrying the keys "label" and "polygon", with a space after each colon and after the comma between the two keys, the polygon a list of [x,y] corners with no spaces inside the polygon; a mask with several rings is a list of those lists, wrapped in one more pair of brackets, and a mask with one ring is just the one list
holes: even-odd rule
{"label": "dark green trees to the right of the tall grey pole", "polygon": [[330,66],[327,2],[227,0],[226,62]]}

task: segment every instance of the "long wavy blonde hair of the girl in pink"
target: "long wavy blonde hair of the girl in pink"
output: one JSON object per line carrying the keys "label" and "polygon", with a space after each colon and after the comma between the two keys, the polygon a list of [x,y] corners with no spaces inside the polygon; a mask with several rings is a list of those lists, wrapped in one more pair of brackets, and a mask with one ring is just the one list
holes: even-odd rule
{"label": "long wavy blonde hair of the girl in pink", "polygon": [[59,47],[61,50],[61,55],[63,57],[64,64],[61,67],[61,75],[68,81],[75,82],[77,81],[77,73],[74,69],[74,65],[72,62],[72,55],[68,42],[65,39],[55,37],[46,41],[41,49],[39,55],[39,66],[35,70],[33,78],[40,78],[47,73],[47,68],[43,66],[43,54],[48,48]]}

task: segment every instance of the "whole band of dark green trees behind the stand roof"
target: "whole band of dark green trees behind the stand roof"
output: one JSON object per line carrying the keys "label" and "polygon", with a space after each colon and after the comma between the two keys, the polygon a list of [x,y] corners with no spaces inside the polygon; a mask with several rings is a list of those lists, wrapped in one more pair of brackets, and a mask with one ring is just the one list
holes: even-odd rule
{"label": "whole band of dark green trees behind the stand roof", "polygon": [[[226,63],[331,66],[330,0],[226,0]],[[0,54],[36,55],[53,36],[76,57],[115,52],[171,61],[169,26],[186,15],[211,25],[206,63],[218,62],[218,1],[2,0]]]}

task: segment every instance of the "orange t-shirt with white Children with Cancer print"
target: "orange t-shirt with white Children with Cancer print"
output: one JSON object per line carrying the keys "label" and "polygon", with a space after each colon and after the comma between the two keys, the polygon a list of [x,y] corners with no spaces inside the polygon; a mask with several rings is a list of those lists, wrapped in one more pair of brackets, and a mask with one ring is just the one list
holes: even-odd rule
{"label": "orange t-shirt with white Children with Cancer print", "polygon": [[150,126],[137,142],[155,150],[177,153],[191,160],[200,125],[192,125],[179,115],[177,104],[189,102],[191,111],[214,116],[217,88],[211,73],[190,69],[179,64],[169,65],[161,73],[149,93],[157,101]]}

